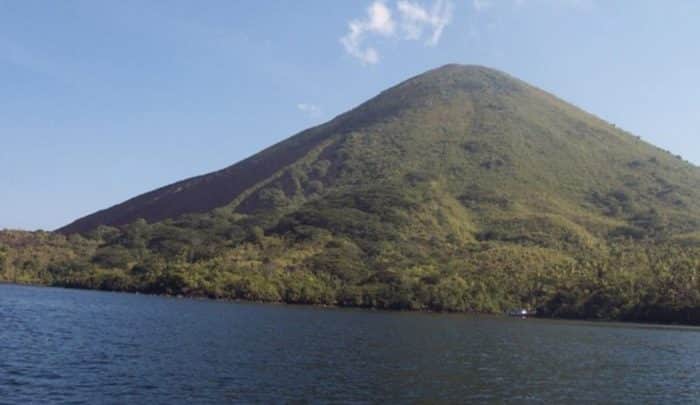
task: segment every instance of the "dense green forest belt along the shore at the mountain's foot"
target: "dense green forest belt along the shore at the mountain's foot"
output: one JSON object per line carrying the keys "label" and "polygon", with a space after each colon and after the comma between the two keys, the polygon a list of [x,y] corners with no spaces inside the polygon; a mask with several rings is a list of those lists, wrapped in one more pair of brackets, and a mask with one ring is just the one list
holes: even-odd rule
{"label": "dense green forest belt along the shore at the mountain's foot", "polygon": [[[467,240],[411,229],[393,193],[278,218],[191,215],[83,237],[0,234],[9,282],[368,308],[700,323],[700,243],[575,235]],[[492,232],[507,233],[507,228]]]}

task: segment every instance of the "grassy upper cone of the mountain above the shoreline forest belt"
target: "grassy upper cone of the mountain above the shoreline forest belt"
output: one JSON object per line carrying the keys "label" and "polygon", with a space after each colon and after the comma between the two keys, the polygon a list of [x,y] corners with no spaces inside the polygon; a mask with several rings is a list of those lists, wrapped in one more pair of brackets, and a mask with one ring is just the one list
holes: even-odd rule
{"label": "grassy upper cone of the mountain above the shoreline forest belt", "polygon": [[480,237],[534,226],[590,242],[700,224],[698,168],[507,74],[446,65],[228,168],[59,232],[216,208],[294,211],[339,193],[420,184],[435,204],[459,211],[458,228]]}

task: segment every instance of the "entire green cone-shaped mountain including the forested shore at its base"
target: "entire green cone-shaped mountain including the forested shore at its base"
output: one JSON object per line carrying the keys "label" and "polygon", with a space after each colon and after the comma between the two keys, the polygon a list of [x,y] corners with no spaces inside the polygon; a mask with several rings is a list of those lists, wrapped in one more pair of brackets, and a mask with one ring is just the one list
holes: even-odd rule
{"label": "entire green cone-shaped mountain including the forested shore at its base", "polygon": [[0,232],[8,282],[368,308],[700,324],[698,270],[699,168],[456,65],[60,233]]}

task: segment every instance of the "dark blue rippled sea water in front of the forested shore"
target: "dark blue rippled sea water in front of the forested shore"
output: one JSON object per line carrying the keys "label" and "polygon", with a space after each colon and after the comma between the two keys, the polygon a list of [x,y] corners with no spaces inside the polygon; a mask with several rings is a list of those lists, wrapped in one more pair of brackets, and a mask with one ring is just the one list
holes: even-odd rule
{"label": "dark blue rippled sea water in front of the forested shore", "polygon": [[697,329],[0,285],[0,403],[700,401]]}

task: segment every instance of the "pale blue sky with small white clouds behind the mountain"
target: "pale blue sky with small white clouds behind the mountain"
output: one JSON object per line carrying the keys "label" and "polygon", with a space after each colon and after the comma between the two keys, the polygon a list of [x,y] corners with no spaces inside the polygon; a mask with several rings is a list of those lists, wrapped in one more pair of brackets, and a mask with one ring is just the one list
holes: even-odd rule
{"label": "pale blue sky with small white clouds behind the mountain", "polygon": [[228,166],[445,63],[700,163],[696,0],[0,0],[0,228]]}

